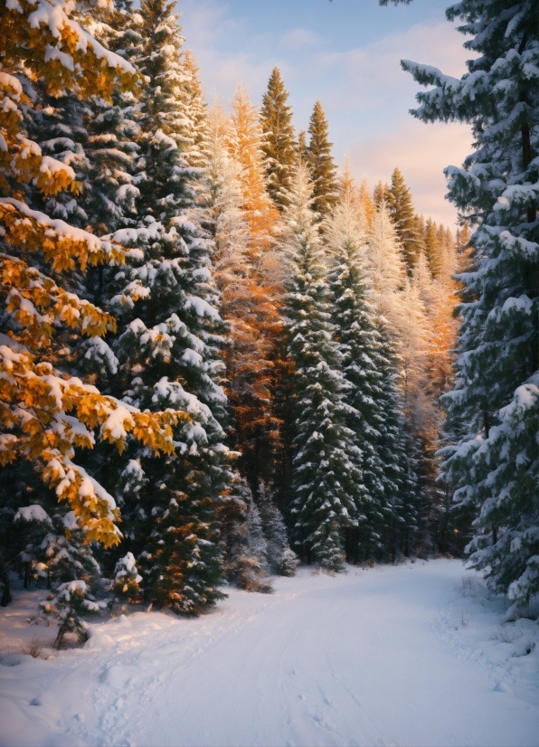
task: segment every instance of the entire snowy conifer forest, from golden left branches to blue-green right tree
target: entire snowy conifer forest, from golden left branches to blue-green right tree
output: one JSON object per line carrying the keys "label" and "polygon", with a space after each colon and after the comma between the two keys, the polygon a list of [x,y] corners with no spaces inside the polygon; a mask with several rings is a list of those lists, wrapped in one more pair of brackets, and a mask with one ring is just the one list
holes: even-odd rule
{"label": "entire snowy conifer forest, from golden left branches to blue-green right tree", "polygon": [[133,610],[459,559],[532,625],[539,5],[450,5],[460,79],[402,61],[414,118],[471,126],[448,225],[399,163],[337,167],[279,66],[212,100],[182,10],[0,0],[1,609],[33,592],[61,656]]}

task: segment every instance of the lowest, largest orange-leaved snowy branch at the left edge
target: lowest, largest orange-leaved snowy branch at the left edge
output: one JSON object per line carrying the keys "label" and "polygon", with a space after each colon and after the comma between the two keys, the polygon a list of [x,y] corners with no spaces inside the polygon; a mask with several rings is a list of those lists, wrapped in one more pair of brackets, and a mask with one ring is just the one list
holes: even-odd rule
{"label": "lowest, largest orange-leaved snowy branch at the left edge", "polygon": [[[139,412],[78,378],[61,378],[49,363],[36,363],[22,345],[0,345],[0,463],[40,459],[43,479],[67,500],[86,529],[86,541],[118,542],[118,511],[106,491],[72,463],[74,447],[91,449],[92,430],[121,452],[128,433],[156,453],[172,453],[171,425],[183,413]],[[11,431],[11,432],[7,432]]]}

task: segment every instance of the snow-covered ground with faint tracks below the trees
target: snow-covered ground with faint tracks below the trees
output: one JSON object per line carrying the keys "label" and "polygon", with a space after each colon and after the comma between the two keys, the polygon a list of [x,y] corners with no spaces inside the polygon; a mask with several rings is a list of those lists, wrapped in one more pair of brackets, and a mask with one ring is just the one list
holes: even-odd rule
{"label": "snow-covered ground with faint tracks below the trees", "polygon": [[53,638],[25,622],[43,591],[18,593],[0,611],[0,744],[539,745],[539,625],[500,626],[503,600],[459,561],[275,588],[199,619],[109,619],[47,660],[19,653]]}

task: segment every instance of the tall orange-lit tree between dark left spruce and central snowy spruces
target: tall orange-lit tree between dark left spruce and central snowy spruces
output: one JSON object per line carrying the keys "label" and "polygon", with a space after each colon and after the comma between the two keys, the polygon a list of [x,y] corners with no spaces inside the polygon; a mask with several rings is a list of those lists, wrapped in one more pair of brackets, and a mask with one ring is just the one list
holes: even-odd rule
{"label": "tall orange-lit tree between dark left spruce and central snowy spruces", "polygon": [[210,123],[211,137],[226,144],[238,167],[241,241],[216,237],[215,279],[222,291],[222,317],[230,325],[225,391],[244,474],[256,490],[257,479],[269,477],[279,449],[274,405],[282,332],[282,263],[274,251],[279,211],[266,191],[258,112],[247,92],[241,86],[236,90],[230,118],[214,106]]}

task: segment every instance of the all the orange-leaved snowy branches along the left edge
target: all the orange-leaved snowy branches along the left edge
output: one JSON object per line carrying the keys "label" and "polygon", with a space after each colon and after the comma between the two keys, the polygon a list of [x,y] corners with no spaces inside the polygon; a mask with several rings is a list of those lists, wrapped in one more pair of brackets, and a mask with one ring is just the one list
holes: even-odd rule
{"label": "all the orange-leaved snowy branches along the left edge", "polygon": [[[175,411],[137,411],[53,368],[56,327],[85,336],[116,329],[114,317],[61,288],[62,274],[121,263],[125,250],[23,202],[19,184],[32,182],[45,196],[65,189],[77,194],[80,184],[70,166],[43,156],[25,137],[21,108],[29,101],[13,73],[44,80],[52,95],[75,90],[80,97],[105,99],[115,88],[136,87],[139,76],[69,17],[74,4],[0,2],[0,190],[11,195],[0,199],[0,239],[13,251],[0,253],[0,297],[10,319],[8,335],[0,337],[0,464],[20,458],[41,462],[43,480],[70,504],[86,542],[109,546],[120,537],[118,509],[107,491],[71,461],[74,449],[91,449],[93,431],[99,429],[101,440],[120,452],[130,434],[156,454],[170,454],[172,426],[189,418]],[[56,279],[43,274],[43,261]]]}

